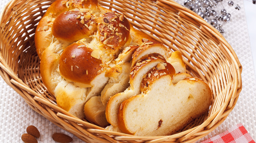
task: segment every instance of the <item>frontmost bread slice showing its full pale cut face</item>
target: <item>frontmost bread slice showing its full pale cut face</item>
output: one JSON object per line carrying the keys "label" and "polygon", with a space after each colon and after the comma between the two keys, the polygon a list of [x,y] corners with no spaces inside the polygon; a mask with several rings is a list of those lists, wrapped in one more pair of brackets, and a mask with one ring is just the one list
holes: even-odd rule
{"label": "frontmost bread slice showing its full pale cut face", "polygon": [[151,86],[145,93],[125,100],[118,108],[118,127],[124,133],[170,135],[209,109],[211,89],[200,79],[173,84],[172,75],[166,74],[148,81]]}

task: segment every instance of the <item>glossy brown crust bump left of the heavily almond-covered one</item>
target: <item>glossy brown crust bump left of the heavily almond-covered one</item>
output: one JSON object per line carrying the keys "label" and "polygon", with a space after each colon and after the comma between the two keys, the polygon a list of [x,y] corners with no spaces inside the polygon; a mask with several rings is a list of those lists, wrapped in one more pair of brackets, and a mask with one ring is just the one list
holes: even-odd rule
{"label": "glossy brown crust bump left of the heavily almond-covered one", "polygon": [[53,36],[57,40],[74,42],[89,38],[97,30],[95,17],[88,11],[66,11],[59,14],[52,24]]}

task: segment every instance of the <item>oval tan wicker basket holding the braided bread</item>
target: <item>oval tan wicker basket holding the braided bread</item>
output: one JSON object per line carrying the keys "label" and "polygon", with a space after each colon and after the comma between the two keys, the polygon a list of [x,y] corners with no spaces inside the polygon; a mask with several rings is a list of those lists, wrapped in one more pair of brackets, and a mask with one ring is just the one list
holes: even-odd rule
{"label": "oval tan wicker basket holding the braided bread", "polygon": [[195,142],[217,128],[234,108],[242,90],[242,66],[224,37],[200,16],[172,0],[100,0],[154,40],[180,51],[187,72],[213,91],[209,113],[170,136],[138,137],[110,132],[59,108],[40,77],[34,33],[54,0],[12,0],[0,17],[0,74],[26,103],[51,122],[85,142]]}

